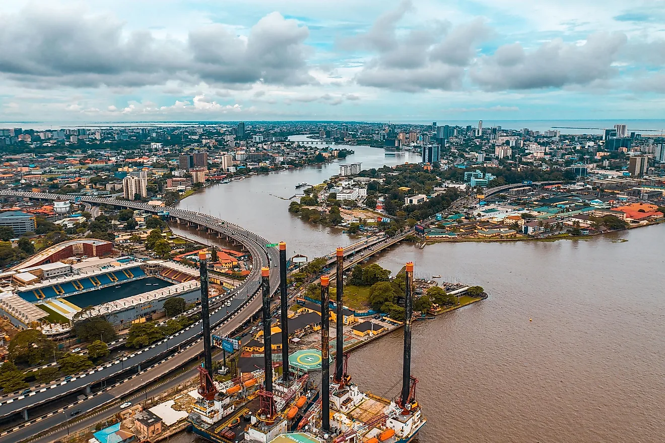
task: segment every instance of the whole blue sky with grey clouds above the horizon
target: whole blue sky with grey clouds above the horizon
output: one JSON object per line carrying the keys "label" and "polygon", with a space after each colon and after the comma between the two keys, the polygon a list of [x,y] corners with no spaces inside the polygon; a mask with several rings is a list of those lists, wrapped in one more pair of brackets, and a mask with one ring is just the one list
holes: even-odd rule
{"label": "whole blue sky with grey clouds above the horizon", "polygon": [[0,121],[665,118],[665,1],[0,0]]}

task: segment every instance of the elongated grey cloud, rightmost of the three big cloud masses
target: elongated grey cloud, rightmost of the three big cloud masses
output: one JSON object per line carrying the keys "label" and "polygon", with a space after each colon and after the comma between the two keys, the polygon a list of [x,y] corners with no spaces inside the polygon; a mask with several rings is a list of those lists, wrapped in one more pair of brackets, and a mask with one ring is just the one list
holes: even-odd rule
{"label": "elongated grey cloud, rightmost of the three big cloud masses", "polygon": [[591,84],[618,73],[612,63],[626,41],[623,33],[596,33],[582,45],[554,39],[529,52],[519,43],[503,45],[481,57],[470,76],[487,90]]}

